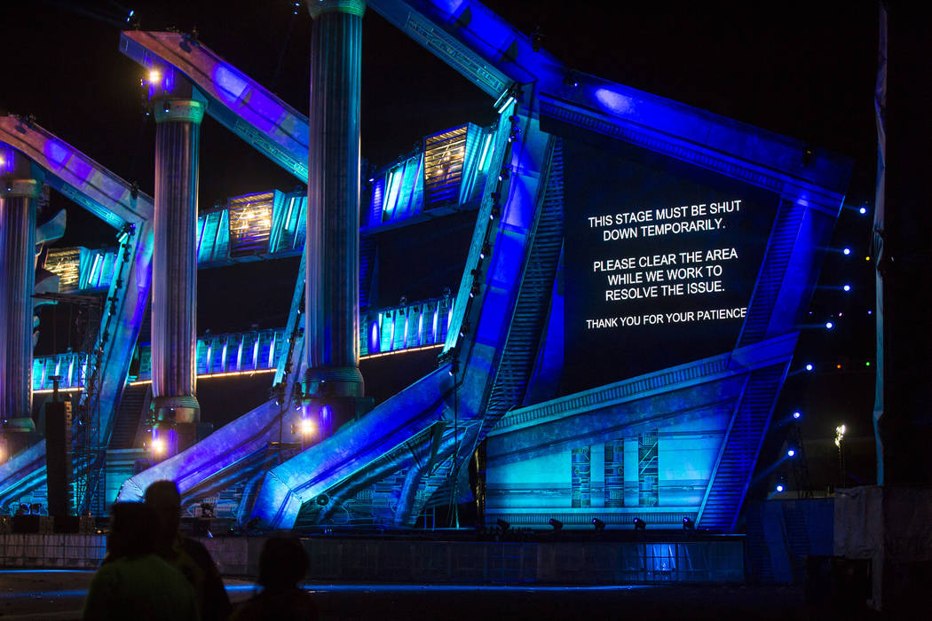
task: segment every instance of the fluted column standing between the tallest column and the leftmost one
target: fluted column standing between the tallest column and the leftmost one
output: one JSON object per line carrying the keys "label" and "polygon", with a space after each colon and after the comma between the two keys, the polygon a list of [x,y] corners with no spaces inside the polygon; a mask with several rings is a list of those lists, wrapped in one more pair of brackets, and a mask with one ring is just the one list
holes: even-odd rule
{"label": "fluted column standing between the tallest column and the leftmost one", "polygon": [[[196,440],[198,166],[204,104],[163,95],[156,117],[152,394],[167,454]],[[174,435],[171,434],[174,431]],[[166,431],[168,433],[162,433]]]}

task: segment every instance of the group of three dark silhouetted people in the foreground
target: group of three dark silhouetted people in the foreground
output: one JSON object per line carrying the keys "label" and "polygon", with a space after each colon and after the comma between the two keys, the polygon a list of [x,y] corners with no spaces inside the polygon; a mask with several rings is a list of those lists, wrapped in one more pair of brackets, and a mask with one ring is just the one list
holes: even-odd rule
{"label": "group of three dark silhouetted people in the foreground", "polygon": [[107,552],[94,574],[84,618],[94,621],[316,621],[300,583],[308,553],[293,534],[269,537],[259,556],[261,590],[234,610],[210,552],[179,531],[181,495],[173,481],[145,491],[143,503],[116,503]]}

